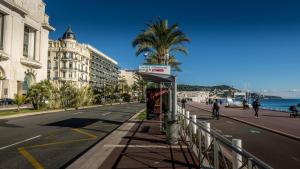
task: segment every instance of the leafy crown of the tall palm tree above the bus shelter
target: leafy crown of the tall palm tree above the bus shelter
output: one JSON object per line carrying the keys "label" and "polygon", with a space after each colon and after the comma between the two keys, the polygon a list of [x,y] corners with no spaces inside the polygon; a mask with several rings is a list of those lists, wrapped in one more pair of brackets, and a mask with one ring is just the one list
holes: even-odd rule
{"label": "leafy crown of the tall palm tree above the bus shelter", "polygon": [[150,64],[166,64],[178,70],[179,62],[175,54],[188,54],[184,42],[190,42],[190,39],[179,30],[177,24],[169,27],[168,20],[158,19],[147,24],[147,29],[135,38],[132,45],[136,48],[136,56],[148,54],[152,60]]}

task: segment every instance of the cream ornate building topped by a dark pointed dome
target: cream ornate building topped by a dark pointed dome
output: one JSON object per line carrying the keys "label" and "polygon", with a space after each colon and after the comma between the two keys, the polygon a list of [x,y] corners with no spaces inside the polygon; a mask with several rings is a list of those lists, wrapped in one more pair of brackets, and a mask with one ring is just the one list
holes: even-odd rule
{"label": "cream ornate building topped by a dark pointed dome", "polygon": [[87,45],[76,41],[70,26],[62,38],[49,40],[48,56],[49,80],[71,81],[79,86],[89,84],[90,52]]}

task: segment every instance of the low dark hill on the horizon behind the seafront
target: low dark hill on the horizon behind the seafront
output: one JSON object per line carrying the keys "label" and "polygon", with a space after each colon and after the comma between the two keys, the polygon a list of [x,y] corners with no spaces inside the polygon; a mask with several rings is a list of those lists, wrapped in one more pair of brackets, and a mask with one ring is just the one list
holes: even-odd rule
{"label": "low dark hill on the horizon behind the seafront", "polygon": [[177,90],[178,91],[213,91],[213,90],[236,90],[233,87],[227,85],[218,85],[218,86],[199,86],[199,85],[186,85],[186,84],[178,84]]}

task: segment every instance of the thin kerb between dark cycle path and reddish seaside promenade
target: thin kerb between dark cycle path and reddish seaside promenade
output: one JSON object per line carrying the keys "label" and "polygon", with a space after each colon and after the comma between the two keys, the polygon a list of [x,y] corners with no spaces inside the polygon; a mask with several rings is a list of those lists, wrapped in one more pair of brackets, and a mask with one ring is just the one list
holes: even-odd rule
{"label": "thin kerb between dark cycle path and reddish seaside promenade", "polygon": [[[195,108],[207,111],[207,112],[211,112],[210,110],[207,110],[207,109],[204,109],[204,108],[200,108],[200,107],[197,107],[197,106],[193,106],[193,105],[190,105],[190,104],[189,104],[189,106],[192,106],[192,107],[195,107]],[[300,137],[292,135],[292,134],[287,134],[287,133],[284,133],[282,131],[274,130],[274,129],[271,129],[271,128],[268,128],[268,127],[265,127],[265,126],[261,126],[261,125],[258,125],[258,124],[254,124],[254,123],[251,123],[251,122],[240,120],[240,119],[237,119],[237,118],[234,118],[234,117],[226,116],[224,114],[221,114],[221,116],[227,117],[229,119],[232,119],[232,120],[235,120],[235,121],[238,121],[238,122],[242,122],[242,123],[254,126],[254,127],[258,127],[258,128],[261,128],[261,129],[264,129],[264,130],[270,131],[272,133],[276,133],[276,134],[279,134],[279,135],[282,135],[282,136],[285,136],[285,137],[288,137],[288,138],[291,138],[291,139],[295,139],[297,141],[300,141]]]}

